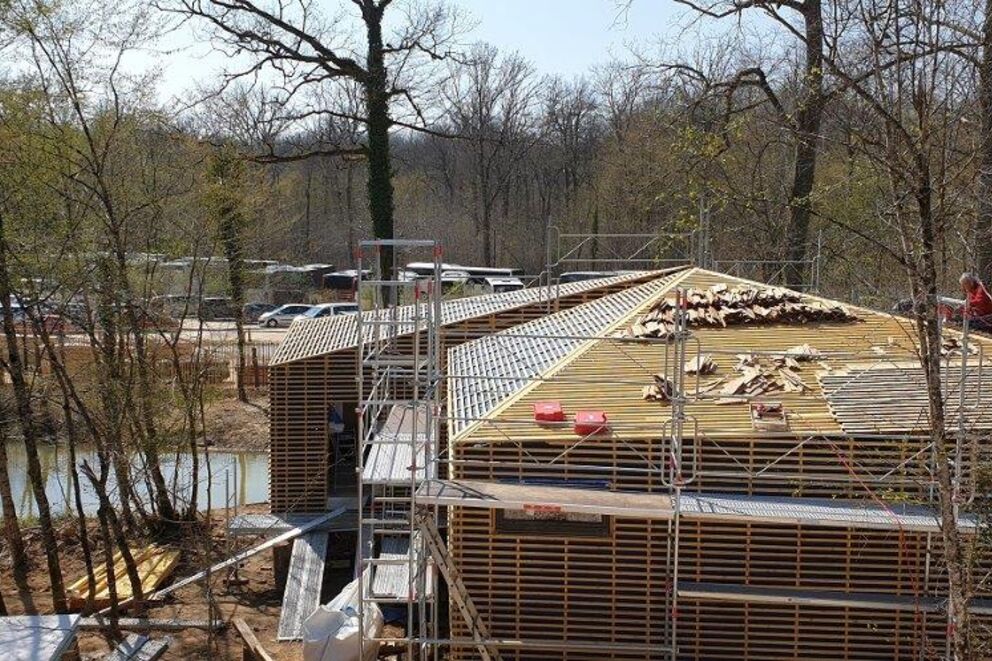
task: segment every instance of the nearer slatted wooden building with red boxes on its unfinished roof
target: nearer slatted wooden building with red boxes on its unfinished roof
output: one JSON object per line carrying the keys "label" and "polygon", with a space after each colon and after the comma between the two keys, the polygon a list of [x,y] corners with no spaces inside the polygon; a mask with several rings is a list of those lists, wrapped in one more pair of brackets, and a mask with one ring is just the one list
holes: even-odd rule
{"label": "nearer slatted wooden building with red boxes on its unfinished roof", "polygon": [[[477,627],[450,608],[451,658],[945,658],[912,324],[787,293],[782,310],[836,318],[776,321],[753,304],[724,325],[710,314],[720,292],[769,288],[696,268],[628,283],[448,351],[447,479],[425,480],[416,504],[446,511],[450,563],[478,612]],[[689,292],[681,339],[632,332],[676,292]],[[966,499],[992,432],[992,345],[945,336]],[[306,435],[279,406],[274,456]],[[974,534],[967,508],[958,525]],[[983,624],[992,601],[978,589]]]}

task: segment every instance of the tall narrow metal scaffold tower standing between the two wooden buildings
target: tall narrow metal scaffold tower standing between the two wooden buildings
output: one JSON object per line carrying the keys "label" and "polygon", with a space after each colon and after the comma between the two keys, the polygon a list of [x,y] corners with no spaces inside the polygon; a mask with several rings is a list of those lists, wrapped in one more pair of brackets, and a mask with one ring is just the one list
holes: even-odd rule
{"label": "tall narrow metal scaffold tower standing between the two wooden buildings", "polygon": [[[384,252],[389,260],[382,259]],[[360,658],[367,646],[386,640],[404,644],[409,659],[425,658],[427,647],[420,641],[437,635],[437,580],[420,532],[417,490],[437,470],[441,248],[433,240],[363,241],[357,257]],[[369,257],[371,276],[364,278]],[[430,261],[432,275],[402,277],[396,264],[414,260]],[[404,298],[412,302],[401,306]],[[381,455],[389,460],[376,459]],[[374,470],[381,465],[391,470]],[[430,516],[436,527],[437,511]],[[365,635],[372,604],[405,607],[401,641]]]}

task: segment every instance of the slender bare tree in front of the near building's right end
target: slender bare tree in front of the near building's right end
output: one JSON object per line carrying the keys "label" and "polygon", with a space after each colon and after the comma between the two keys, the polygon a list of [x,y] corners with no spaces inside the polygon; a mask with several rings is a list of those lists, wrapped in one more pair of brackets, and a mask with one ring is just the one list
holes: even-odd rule
{"label": "slender bare tree in front of the near building's right end", "polygon": [[845,112],[866,120],[850,127],[855,136],[851,147],[879,175],[878,213],[897,233],[897,257],[916,304],[947,569],[948,636],[953,658],[965,661],[978,657],[969,611],[973,577],[957,521],[961,485],[953,467],[956,446],[963,440],[949,430],[937,309],[941,246],[971,173],[969,159],[960,157],[967,137],[961,121],[966,107],[959,100],[968,90],[969,76],[941,27],[944,3],[851,3],[843,10],[849,33],[824,58],[824,70],[846,92]]}

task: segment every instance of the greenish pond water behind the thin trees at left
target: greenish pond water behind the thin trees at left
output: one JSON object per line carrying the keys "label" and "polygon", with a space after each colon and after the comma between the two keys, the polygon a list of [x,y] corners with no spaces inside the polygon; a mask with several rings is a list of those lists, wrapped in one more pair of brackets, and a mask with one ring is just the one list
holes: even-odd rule
{"label": "greenish pond water behind the thin trees at left", "polygon": [[[42,475],[45,477],[45,492],[48,494],[52,514],[58,516],[74,513],[75,499],[72,495],[68,449],[64,445],[40,445],[38,453],[41,460]],[[11,490],[14,495],[14,504],[17,507],[17,515],[21,518],[37,516],[38,508],[27,476],[27,455],[24,444],[8,442],[7,458],[9,462],[7,470],[10,473]],[[180,453],[178,462],[175,453],[168,455],[168,457],[162,457],[162,473],[166,481],[172,485],[173,480],[176,480],[180,493],[186,494],[187,498],[191,487],[192,462],[190,459],[189,453]],[[77,449],[77,463],[81,464],[84,460],[97,470],[99,461],[95,448]],[[138,474],[139,460],[135,458],[132,460],[132,464],[135,465],[135,474]],[[269,499],[268,466],[268,453],[265,452],[215,452],[211,450],[210,467],[213,480],[208,481],[204,456],[201,453],[200,479],[197,485],[197,502],[200,508],[206,509],[208,486],[214,508],[224,506],[226,488],[230,488],[232,505],[235,497],[239,505],[266,502]],[[228,486],[225,486],[225,482]],[[83,509],[87,513],[95,514],[99,503],[92,485],[89,484],[86,476],[82,475],[82,472],[80,472],[80,483],[82,485]],[[237,484],[236,492],[235,484]],[[111,470],[108,480],[108,491],[111,493],[111,497],[116,493],[114,485],[114,474]],[[143,486],[139,485],[138,492],[144,494],[147,500],[147,490]]]}

